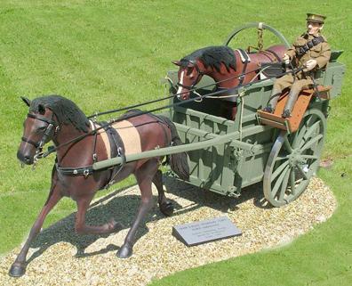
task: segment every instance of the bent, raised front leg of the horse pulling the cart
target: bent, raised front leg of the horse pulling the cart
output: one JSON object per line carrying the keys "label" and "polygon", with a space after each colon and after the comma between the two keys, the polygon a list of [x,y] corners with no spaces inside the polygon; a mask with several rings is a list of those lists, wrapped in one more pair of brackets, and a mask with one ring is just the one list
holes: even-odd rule
{"label": "bent, raised front leg of the horse pulling the cart", "polygon": [[85,225],[85,215],[89,205],[92,201],[93,195],[84,196],[77,200],[77,215],[75,231],[78,234],[105,234],[113,233],[118,229],[121,229],[121,225],[116,223],[114,219],[111,219],[105,225]]}

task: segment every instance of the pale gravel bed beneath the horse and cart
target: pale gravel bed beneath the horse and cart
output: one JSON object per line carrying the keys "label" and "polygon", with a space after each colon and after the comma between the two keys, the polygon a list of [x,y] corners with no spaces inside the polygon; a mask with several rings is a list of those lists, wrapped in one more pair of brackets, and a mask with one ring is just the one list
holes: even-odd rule
{"label": "pale gravel bed beneath the horse and cart", "polygon": [[[116,257],[139,205],[139,189],[112,192],[96,200],[87,219],[103,224],[111,217],[123,230],[105,236],[74,233],[75,213],[40,233],[29,250],[27,273],[8,276],[20,248],[0,258],[0,285],[146,285],[152,279],[196,266],[280,247],[332,216],[337,202],[318,178],[313,178],[300,198],[282,208],[270,208],[260,184],[243,190],[239,199],[204,192],[173,179],[165,180],[166,195],[175,206],[172,217],[155,207],[140,229],[133,255]],[[156,200],[156,190],[153,190]],[[228,216],[242,236],[188,248],[172,236],[172,226]]]}

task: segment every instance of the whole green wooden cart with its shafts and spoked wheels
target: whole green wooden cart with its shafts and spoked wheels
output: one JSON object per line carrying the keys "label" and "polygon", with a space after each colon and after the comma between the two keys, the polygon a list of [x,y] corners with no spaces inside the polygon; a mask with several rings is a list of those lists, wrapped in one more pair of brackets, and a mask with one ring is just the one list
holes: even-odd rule
{"label": "whole green wooden cart with its shafts and spoked wheels", "polygon": [[[258,24],[272,31],[288,46],[276,29],[262,23],[250,23],[235,29],[225,45],[239,31],[258,27]],[[276,115],[276,119],[281,121],[275,124],[270,124],[271,118],[267,121],[262,118],[263,112],[260,110],[267,105],[274,79],[268,78],[237,88],[232,94],[237,97],[234,121],[220,116],[224,99],[203,98],[202,102],[179,102],[176,96],[172,96],[172,108],[164,115],[175,124],[184,144],[126,155],[125,161],[187,151],[190,168],[188,184],[237,197],[243,187],[263,181],[263,192],[270,204],[280,207],[289,203],[304,192],[319,167],[329,102],[340,95],[345,73],[345,65],[337,61],[341,53],[332,52],[326,69],[316,74],[316,83],[331,86],[330,91],[324,96],[310,91],[304,109],[296,109],[300,117],[295,119],[295,128],[291,128],[291,118],[286,121]],[[169,71],[166,78],[170,94],[176,95],[178,71]],[[196,85],[196,91],[201,95],[210,94],[215,87],[213,79],[204,76]],[[305,101],[302,94],[298,102],[300,99]],[[292,118],[294,111],[295,108]],[[94,163],[92,168],[99,170],[123,163],[124,159],[116,157]],[[169,174],[172,175],[171,172]]]}

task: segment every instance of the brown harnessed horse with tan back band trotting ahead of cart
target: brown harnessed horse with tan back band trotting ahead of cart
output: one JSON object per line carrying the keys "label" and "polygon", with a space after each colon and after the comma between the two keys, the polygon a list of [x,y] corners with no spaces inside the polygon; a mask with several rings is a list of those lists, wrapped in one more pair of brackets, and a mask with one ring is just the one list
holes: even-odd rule
{"label": "brown harnessed horse with tan back band trotting ahead of cart", "polygon": [[[163,158],[140,159],[100,171],[93,171],[92,164],[114,156],[181,144],[172,121],[150,113],[141,114],[140,110],[130,110],[115,123],[103,124],[90,121],[74,102],[60,95],[38,97],[33,101],[27,98],[22,100],[27,103],[29,111],[24,121],[18,159],[22,164],[36,163],[43,144],[49,141],[54,144],[57,157],[52,168],[52,186],[48,199],[9,274],[19,277],[25,273],[31,242],[40,232],[47,214],[62,197],[76,201],[76,233],[113,233],[121,229],[113,219],[105,225],[86,225],[85,215],[98,190],[133,174],[140,187],[140,207],[124,244],[116,253],[117,257],[130,257],[137,229],[154,205],[152,183],[156,185],[160,210],[166,216],[173,212],[172,202],[164,195],[162,172],[159,170]],[[168,156],[167,160],[181,179],[188,180],[186,153]]]}

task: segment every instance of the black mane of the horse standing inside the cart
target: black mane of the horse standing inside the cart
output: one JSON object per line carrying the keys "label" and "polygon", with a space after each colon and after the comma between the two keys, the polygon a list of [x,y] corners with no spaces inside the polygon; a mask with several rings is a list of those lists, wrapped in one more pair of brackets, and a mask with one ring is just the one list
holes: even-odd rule
{"label": "black mane of the horse standing inside the cart", "polygon": [[207,46],[188,54],[180,60],[182,67],[187,67],[188,61],[200,60],[204,63],[205,68],[209,66],[220,72],[221,63],[226,69],[236,70],[236,56],[234,51],[227,45]]}

